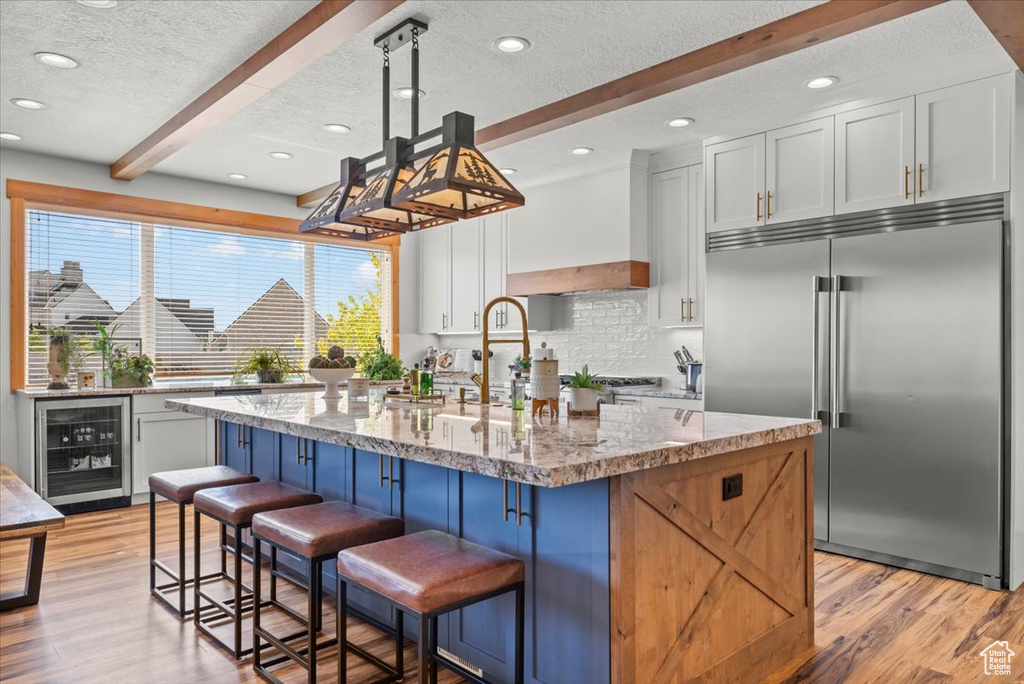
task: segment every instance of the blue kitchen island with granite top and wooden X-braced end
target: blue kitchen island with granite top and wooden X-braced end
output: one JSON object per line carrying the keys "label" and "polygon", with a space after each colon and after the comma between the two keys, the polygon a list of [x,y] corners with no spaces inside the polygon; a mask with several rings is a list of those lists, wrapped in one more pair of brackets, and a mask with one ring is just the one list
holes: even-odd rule
{"label": "blue kitchen island with granite top and wooden X-braced end", "polygon": [[[815,421],[613,405],[530,420],[383,390],[167,405],[219,421],[221,463],[521,558],[529,682],[754,681],[813,643]],[[464,608],[439,646],[510,682],[513,614],[511,596]]]}

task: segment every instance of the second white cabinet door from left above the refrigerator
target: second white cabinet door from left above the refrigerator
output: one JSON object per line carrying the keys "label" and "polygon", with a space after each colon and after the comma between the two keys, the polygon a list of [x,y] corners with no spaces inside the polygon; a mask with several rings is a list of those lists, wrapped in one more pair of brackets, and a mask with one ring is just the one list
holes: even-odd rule
{"label": "second white cabinet door from left above the refrigerator", "polygon": [[765,134],[767,223],[833,215],[834,123],[827,117]]}

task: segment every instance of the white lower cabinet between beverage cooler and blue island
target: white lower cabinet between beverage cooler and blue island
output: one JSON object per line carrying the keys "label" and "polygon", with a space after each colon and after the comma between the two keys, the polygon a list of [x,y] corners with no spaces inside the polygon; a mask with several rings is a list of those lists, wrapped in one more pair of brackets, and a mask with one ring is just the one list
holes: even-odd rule
{"label": "white lower cabinet between beverage cooler and blue island", "polygon": [[[135,495],[150,490],[153,473],[202,468],[216,462],[214,421],[166,409],[154,411],[163,407],[164,398],[168,397],[132,397],[132,493]],[[152,413],[139,413],[136,407]]]}

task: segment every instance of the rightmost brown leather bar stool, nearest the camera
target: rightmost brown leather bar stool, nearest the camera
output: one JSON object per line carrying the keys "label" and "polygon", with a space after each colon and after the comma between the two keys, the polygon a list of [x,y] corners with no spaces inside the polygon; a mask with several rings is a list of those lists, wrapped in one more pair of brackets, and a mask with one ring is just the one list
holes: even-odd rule
{"label": "rightmost brown leather bar stool, nearest the camera", "polygon": [[[523,586],[518,558],[428,530],[346,549],[338,554],[338,682],[346,676],[346,592],[351,583],[420,623],[420,684],[436,684],[437,664],[478,684],[487,682],[437,654],[437,617],[515,592],[515,683],[523,679]],[[400,625],[400,623],[399,623]]]}

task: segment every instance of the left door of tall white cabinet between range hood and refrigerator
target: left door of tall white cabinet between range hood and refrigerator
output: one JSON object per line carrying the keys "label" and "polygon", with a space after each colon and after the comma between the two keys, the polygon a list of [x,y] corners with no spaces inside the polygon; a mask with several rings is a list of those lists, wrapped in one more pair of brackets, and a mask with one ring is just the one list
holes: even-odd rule
{"label": "left door of tall white cabinet between range hood and refrigerator", "polygon": [[649,312],[655,326],[686,322],[689,172],[673,169],[650,177]]}

